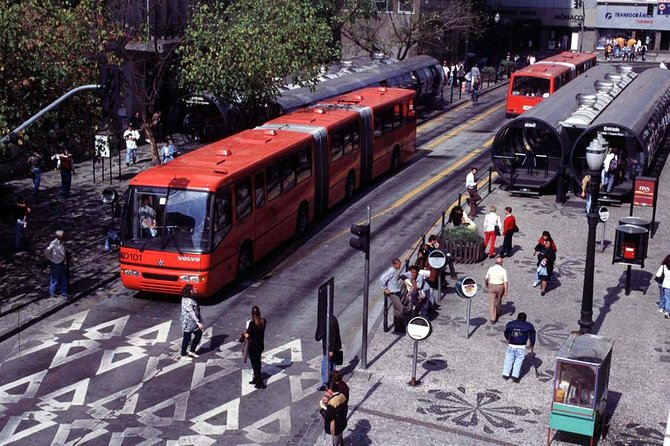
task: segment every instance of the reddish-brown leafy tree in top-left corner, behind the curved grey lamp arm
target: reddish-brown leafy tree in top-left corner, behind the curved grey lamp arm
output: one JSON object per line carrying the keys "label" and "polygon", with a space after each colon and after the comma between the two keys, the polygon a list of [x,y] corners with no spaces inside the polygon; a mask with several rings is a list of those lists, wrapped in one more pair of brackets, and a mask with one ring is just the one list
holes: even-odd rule
{"label": "reddish-brown leafy tree in top-left corner, behind the curved grey lamp arm", "polygon": [[[97,83],[105,45],[115,38],[101,3],[0,0],[0,136],[72,88]],[[78,94],[19,140],[45,149],[63,136],[80,149],[92,144],[98,110],[97,94]]]}

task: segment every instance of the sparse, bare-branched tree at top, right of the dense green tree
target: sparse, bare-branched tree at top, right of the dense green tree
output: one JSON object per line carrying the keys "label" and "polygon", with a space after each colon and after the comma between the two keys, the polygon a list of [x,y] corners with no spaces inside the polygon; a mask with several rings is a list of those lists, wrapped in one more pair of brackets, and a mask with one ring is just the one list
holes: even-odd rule
{"label": "sparse, bare-branched tree at top, right of the dense green tree", "polygon": [[[375,12],[361,16],[342,29],[345,38],[372,54],[383,52],[404,59],[410,50],[421,53],[441,50],[448,33],[477,35],[483,32],[483,16],[470,0],[399,0],[402,12]],[[439,51],[438,51],[439,52]]]}

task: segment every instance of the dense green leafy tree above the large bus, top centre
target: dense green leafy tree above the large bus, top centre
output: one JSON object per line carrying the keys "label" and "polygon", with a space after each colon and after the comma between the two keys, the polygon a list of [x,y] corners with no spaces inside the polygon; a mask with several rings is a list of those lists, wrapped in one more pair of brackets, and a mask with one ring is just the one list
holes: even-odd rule
{"label": "dense green leafy tree above the large bus, top centre", "polygon": [[331,31],[310,0],[239,0],[201,3],[183,43],[180,83],[258,111],[285,79],[313,85],[332,60]]}

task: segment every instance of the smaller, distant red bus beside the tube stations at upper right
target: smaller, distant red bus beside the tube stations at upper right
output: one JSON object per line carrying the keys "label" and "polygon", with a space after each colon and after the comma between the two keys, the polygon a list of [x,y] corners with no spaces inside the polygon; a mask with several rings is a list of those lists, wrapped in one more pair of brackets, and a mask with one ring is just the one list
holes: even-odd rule
{"label": "smaller, distant red bus beside the tube stations at upper right", "polygon": [[595,65],[594,53],[563,52],[515,71],[509,81],[506,116],[513,118],[530,110]]}

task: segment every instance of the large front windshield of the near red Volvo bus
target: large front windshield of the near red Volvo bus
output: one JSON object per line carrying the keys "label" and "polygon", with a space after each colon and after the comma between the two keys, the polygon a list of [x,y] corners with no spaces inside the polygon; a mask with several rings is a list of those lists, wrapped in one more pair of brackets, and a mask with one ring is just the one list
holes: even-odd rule
{"label": "large front windshield of the near red Volvo bus", "polygon": [[122,242],[142,251],[208,252],[209,200],[203,191],[131,188]]}

